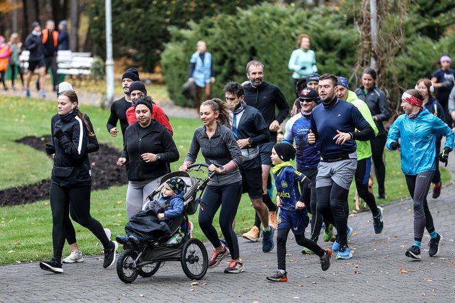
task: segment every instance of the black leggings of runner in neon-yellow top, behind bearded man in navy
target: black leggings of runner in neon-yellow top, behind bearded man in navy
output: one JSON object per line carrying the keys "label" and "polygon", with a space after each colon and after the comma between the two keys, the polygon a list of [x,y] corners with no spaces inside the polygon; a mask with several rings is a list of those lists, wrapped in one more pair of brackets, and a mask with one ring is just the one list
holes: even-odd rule
{"label": "black leggings of runner in neon-yellow top, behind bearded man in navy", "polygon": [[376,199],[374,195],[368,190],[369,173],[371,169],[371,158],[357,160],[357,169],[354,174],[354,180],[356,180],[356,189],[358,196],[365,201],[371,210],[373,217],[378,215],[378,206],[376,205]]}

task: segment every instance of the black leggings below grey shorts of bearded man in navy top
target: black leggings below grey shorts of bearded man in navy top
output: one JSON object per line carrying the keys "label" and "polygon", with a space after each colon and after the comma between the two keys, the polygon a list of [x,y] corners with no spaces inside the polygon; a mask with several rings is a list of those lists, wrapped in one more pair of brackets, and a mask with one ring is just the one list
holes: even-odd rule
{"label": "black leggings below grey shorts of bearded man in navy top", "polygon": [[347,245],[347,195],[349,190],[343,189],[335,182],[332,186],[322,186],[316,188],[317,210],[325,220],[335,226],[338,232],[338,241],[340,246]]}

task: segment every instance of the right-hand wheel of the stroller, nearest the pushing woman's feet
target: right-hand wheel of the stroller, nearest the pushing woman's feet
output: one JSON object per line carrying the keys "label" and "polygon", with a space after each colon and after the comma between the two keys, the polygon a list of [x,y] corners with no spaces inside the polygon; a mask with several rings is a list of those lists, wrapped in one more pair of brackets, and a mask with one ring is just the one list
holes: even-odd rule
{"label": "right-hand wheel of the stroller, nearest the pushing woman's feet", "polygon": [[185,241],[180,258],[182,269],[191,280],[201,280],[208,269],[208,255],[204,244],[198,239]]}

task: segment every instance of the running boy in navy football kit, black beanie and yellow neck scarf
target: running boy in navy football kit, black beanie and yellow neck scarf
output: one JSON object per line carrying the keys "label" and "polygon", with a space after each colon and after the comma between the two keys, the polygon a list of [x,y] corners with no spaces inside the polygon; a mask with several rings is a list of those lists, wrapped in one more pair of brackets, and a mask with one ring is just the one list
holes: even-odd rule
{"label": "running boy in navy football kit, black beanie and yellow neck scarf", "polygon": [[277,206],[281,208],[278,218],[277,256],[278,271],[268,276],[271,282],[287,282],[286,272],[286,239],[289,230],[293,231],[295,242],[315,252],[321,260],[323,271],[330,267],[332,250],[323,250],[310,239],[305,238],[305,228],[308,226],[308,213],[299,193],[298,183],[308,181],[306,175],[296,171],[290,160],[295,159],[295,149],[288,143],[278,143],[273,147],[271,160],[275,165],[271,171],[275,178],[277,189]]}

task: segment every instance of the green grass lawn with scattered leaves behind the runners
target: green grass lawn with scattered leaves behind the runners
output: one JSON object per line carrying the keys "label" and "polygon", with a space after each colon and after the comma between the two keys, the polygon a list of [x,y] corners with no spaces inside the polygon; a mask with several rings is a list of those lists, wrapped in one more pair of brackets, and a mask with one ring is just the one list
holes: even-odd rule
{"label": "green grass lawn with scattered leaves behind the runners", "polygon": [[[21,186],[50,178],[52,162],[44,152],[25,145],[14,143],[23,136],[42,136],[50,133],[51,116],[56,112],[56,104],[34,99],[0,97],[0,189]],[[93,122],[101,143],[121,149],[121,136],[112,138],[106,130],[108,110],[84,106]],[[201,123],[197,119],[171,118],[174,140],[180,151],[180,160],[171,165],[173,170],[180,166],[193,136],[193,130]],[[43,147],[45,142],[43,142]],[[44,148],[43,148],[44,150]],[[115,165],[112,163],[112,165]],[[399,154],[386,151],[386,193],[390,202],[408,197],[404,176],[399,167]],[[442,170],[444,182],[450,180],[450,173]],[[349,195],[350,208],[354,209],[354,187]],[[375,193],[376,193],[375,189]],[[123,234],[127,222],[125,210],[126,186],[93,191],[91,213],[112,234]],[[195,223],[195,237],[204,239],[199,230],[197,215],[190,219]],[[217,222],[217,219],[214,220]],[[254,211],[247,195],[243,195],[236,217],[236,232],[241,234],[249,229],[254,221]],[[77,242],[86,255],[101,254],[99,241],[85,228],[75,224]],[[42,260],[52,256],[52,218],[49,201],[41,201],[21,206],[0,208],[0,264]],[[372,232],[372,229],[371,229]],[[220,232],[221,234],[221,232]],[[65,245],[64,255],[69,254]]]}

